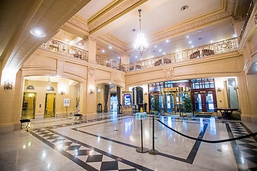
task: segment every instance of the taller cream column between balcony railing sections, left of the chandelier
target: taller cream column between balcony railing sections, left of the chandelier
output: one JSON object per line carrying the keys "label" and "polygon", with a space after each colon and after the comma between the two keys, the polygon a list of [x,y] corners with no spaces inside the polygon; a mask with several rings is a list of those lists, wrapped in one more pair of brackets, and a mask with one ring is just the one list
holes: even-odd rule
{"label": "taller cream column between balcony railing sections, left of the chandelier", "polygon": [[94,36],[87,35],[84,37],[84,50],[88,51],[88,62],[96,63],[96,42]]}

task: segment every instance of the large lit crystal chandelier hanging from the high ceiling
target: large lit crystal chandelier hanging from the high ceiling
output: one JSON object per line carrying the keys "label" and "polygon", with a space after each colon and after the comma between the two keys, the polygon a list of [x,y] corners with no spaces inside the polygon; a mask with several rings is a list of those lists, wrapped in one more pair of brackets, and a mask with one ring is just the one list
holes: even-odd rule
{"label": "large lit crystal chandelier hanging from the high ceiling", "polygon": [[148,51],[148,45],[145,41],[144,34],[141,33],[141,9],[139,12],[139,25],[140,25],[140,33],[137,35],[136,43],[135,43],[135,51],[140,53],[142,56],[143,53]]}

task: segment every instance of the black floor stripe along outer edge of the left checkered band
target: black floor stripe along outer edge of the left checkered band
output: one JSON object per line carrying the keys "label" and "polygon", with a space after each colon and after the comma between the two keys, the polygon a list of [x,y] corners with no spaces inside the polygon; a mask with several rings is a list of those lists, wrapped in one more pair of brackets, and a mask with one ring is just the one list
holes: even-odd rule
{"label": "black floor stripe along outer edge of the left checkered band", "polygon": [[66,152],[63,149],[57,149],[57,146],[52,144],[51,142],[47,141],[46,139],[40,137],[39,135],[35,134],[34,132],[28,130],[28,132],[38,138],[39,140],[41,140],[42,142],[44,142],[46,145],[50,146],[51,148],[57,150],[59,153],[61,153],[63,156],[67,157],[68,159],[70,159],[71,161],[73,161],[74,163],[78,164],[79,166],[83,167],[86,170],[92,170],[92,171],[98,171],[96,168],[90,166],[89,164],[86,164],[85,162],[83,162],[82,160],[80,160],[79,158],[72,156],[71,154],[69,154],[68,152]]}

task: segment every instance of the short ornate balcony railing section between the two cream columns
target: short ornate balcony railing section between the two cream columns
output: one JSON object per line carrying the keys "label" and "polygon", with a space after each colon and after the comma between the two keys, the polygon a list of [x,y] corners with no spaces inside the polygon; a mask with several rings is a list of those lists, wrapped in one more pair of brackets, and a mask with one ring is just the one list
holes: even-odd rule
{"label": "short ornate balcony railing section between the two cream columns", "polygon": [[105,58],[104,56],[96,55],[96,63],[109,68],[125,71],[124,64],[118,63],[117,61],[110,60],[108,58]]}

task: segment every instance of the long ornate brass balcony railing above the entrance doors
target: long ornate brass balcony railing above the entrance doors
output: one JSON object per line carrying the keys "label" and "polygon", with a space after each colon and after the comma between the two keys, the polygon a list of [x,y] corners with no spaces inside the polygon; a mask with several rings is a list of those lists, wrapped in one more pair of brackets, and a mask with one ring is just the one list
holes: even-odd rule
{"label": "long ornate brass balcony railing above the entrance doors", "polygon": [[135,71],[144,68],[151,68],[159,65],[167,65],[175,62],[186,61],[195,58],[202,58],[213,54],[236,51],[238,49],[237,39],[229,39],[197,48],[157,56],[152,59],[143,60],[125,65],[125,71]]}

